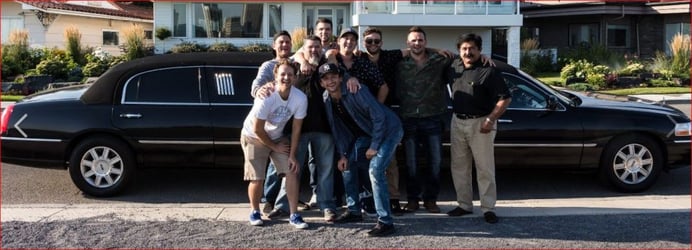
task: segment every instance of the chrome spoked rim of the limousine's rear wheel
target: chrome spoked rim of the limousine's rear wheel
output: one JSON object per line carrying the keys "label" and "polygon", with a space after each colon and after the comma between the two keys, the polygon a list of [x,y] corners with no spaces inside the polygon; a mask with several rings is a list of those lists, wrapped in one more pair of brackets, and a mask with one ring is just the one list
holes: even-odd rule
{"label": "chrome spoked rim of the limousine's rear wheel", "polygon": [[97,188],[112,187],[123,174],[123,161],[118,152],[103,146],[85,152],[79,167],[82,178]]}

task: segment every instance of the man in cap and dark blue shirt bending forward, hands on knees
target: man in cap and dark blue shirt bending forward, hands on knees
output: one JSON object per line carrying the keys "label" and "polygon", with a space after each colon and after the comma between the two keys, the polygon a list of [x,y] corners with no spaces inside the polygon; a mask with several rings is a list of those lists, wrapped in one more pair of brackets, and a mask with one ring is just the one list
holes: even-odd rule
{"label": "man in cap and dark blue shirt bending forward, hands on knees", "polygon": [[394,233],[385,169],[403,137],[401,121],[366,89],[356,93],[347,91],[343,73],[337,65],[323,64],[318,72],[320,84],[326,89],[323,98],[339,155],[337,167],[342,171],[346,185],[348,210],[337,222],[362,220],[360,216],[353,216],[360,214],[358,186],[355,184],[358,175],[350,170],[357,168],[357,164],[368,164],[378,216],[377,224],[368,235]]}

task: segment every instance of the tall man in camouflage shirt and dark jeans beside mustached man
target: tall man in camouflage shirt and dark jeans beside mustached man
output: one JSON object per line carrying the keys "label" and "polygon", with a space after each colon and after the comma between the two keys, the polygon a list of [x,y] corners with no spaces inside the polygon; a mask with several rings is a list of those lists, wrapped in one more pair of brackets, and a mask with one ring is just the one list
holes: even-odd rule
{"label": "tall man in camouflage shirt and dark jeans beside mustached man", "polygon": [[[418,210],[422,193],[425,209],[430,213],[439,213],[437,196],[440,192],[442,115],[447,111],[445,70],[452,59],[429,53],[426,50],[425,31],[420,27],[409,29],[406,44],[410,56],[397,65],[396,88],[401,103],[399,114],[404,126],[403,144],[408,169],[408,204],[404,209],[408,212]],[[426,162],[430,174],[425,179],[417,171],[416,152],[419,144],[424,144],[427,149]]]}

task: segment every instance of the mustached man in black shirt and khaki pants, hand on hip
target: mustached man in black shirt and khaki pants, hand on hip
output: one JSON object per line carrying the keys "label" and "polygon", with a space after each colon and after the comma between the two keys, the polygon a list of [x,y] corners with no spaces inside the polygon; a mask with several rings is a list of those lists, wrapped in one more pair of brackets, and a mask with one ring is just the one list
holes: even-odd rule
{"label": "mustached man in black shirt and khaki pants, hand on hip", "polygon": [[450,69],[454,115],[451,124],[452,180],[459,206],[449,216],[473,213],[472,160],[476,163],[481,211],[488,223],[497,223],[495,202],[495,151],[497,119],[512,98],[500,71],[483,66],[483,41],[475,34],[462,35],[457,41],[460,58]]}

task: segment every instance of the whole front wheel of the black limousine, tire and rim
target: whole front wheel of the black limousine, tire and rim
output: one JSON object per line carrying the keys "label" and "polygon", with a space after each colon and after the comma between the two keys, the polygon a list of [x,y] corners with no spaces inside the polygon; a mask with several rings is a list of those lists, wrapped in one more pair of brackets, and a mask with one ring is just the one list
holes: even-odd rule
{"label": "whole front wheel of the black limousine, tire and rim", "polygon": [[613,139],[601,157],[601,177],[621,192],[642,192],[650,188],[663,169],[663,153],[658,143],[643,135]]}

